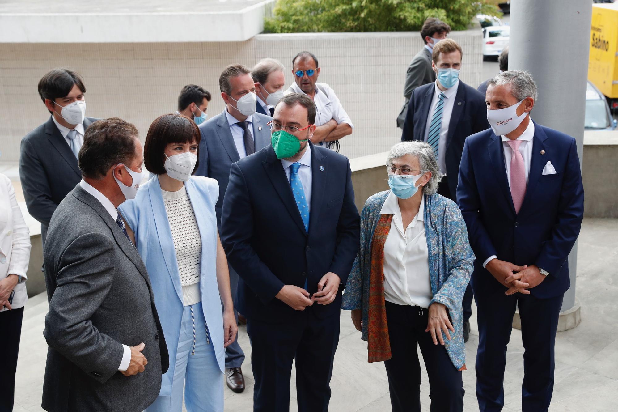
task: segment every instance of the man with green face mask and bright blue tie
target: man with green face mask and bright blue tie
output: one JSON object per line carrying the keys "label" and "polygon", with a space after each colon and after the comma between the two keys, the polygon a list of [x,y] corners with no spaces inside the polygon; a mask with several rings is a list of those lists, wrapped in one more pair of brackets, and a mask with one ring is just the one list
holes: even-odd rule
{"label": "man with green face mask and bright blue tie", "polygon": [[253,349],[254,411],[328,409],[341,291],[359,245],[349,160],[311,143],[315,104],[277,103],[271,145],[232,165],[221,240],[239,274],[237,309]]}

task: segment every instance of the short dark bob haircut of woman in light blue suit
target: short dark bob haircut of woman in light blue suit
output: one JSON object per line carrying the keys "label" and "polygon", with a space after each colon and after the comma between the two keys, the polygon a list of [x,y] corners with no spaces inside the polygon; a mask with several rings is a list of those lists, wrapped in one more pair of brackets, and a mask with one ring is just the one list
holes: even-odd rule
{"label": "short dark bob haircut of woman in light blue suit", "polygon": [[[148,129],[144,144],[144,165],[151,173],[165,174],[165,148],[171,143],[193,143],[199,145],[201,140],[200,129],[194,121],[180,114],[163,114],[155,119]],[[198,147],[198,156],[200,149]],[[193,173],[197,170],[195,163]]]}

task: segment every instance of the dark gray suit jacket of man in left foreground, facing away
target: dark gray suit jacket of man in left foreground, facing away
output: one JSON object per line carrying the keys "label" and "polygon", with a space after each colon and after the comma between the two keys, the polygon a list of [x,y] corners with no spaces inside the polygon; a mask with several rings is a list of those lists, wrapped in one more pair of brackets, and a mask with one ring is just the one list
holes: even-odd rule
{"label": "dark gray suit jacket of man in left foreground, facing away", "polygon": [[[169,355],[146,268],[101,203],[77,186],[49,222],[44,251],[49,345],[47,411],[142,411],[155,401]],[[122,345],[145,343],[144,372],[117,369]]]}

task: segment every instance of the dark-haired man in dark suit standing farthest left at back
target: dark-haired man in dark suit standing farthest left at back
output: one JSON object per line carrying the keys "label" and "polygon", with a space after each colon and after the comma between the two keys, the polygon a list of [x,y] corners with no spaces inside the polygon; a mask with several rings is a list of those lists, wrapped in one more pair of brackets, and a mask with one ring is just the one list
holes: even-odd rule
{"label": "dark-haired man in dark suit standing farthest left at back", "polygon": [[95,118],[84,117],[86,87],[79,74],[54,69],[41,78],[38,92],[51,116],[22,139],[19,177],[28,213],[41,222],[45,244],[51,215],[82,179],[77,153]]}

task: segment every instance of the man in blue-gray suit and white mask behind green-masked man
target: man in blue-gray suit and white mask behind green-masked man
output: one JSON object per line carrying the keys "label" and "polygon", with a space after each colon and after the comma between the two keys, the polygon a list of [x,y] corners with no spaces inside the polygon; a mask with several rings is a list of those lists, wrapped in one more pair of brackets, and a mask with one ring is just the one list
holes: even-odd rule
{"label": "man in blue-gray suit and white mask behind green-masked man", "polygon": [[[255,84],[248,67],[241,64],[227,66],[219,77],[219,88],[226,108],[200,125],[200,161],[195,174],[219,182],[215,212],[221,233],[223,195],[226,193],[232,163],[270,145],[271,132],[267,123],[273,118],[255,113]],[[238,279],[238,274],[230,266],[230,286],[234,301]],[[237,340],[227,346],[226,383],[234,392],[245,390],[245,379],[240,369],[244,360],[245,354]]]}

